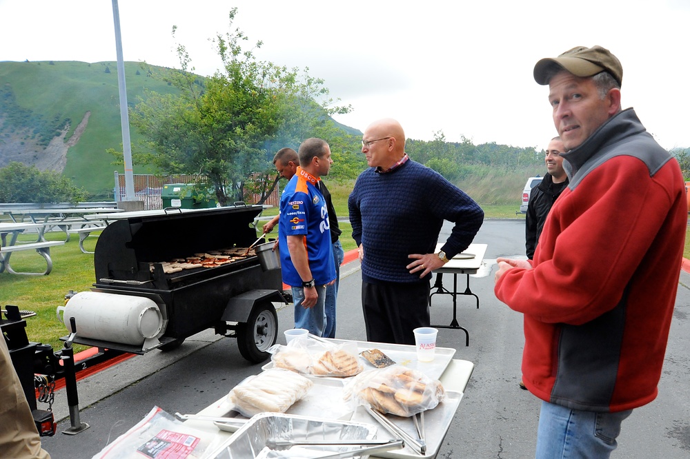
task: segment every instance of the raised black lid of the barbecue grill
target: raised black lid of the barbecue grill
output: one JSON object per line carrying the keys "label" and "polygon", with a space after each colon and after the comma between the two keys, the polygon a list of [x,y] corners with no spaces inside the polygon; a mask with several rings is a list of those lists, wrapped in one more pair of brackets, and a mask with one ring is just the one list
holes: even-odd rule
{"label": "raised black lid of the barbecue grill", "polygon": [[248,247],[256,239],[252,223],[261,212],[261,205],[242,205],[120,214],[96,243],[96,281],[148,281],[149,263],[225,247]]}

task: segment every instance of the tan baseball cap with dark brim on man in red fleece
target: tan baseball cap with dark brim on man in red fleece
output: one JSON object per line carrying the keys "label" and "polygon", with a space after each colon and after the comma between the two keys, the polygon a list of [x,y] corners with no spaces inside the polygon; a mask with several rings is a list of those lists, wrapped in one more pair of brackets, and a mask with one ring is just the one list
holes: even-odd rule
{"label": "tan baseball cap with dark brim on man in red fleece", "polygon": [[567,50],[558,57],[547,57],[540,60],[534,66],[534,79],[540,85],[548,85],[547,76],[553,76],[549,70],[554,65],[564,68],[575,76],[593,76],[606,70],[613,76],[619,85],[623,81],[623,67],[618,58],[611,54],[611,51],[601,46],[585,48],[576,46],[572,50]]}

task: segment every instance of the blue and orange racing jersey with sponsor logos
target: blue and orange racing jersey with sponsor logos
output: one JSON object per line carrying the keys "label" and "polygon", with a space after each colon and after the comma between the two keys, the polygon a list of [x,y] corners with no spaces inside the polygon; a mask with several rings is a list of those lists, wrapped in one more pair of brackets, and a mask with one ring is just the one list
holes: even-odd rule
{"label": "blue and orange racing jersey with sponsor logos", "polygon": [[302,278],[290,259],[287,236],[304,236],[309,269],[317,285],[325,285],[335,279],[328,210],[323,194],[316,187],[319,180],[302,167],[297,167],[295,176],[280,197],[280,261],[283,282],[292,287],[302,287]]}

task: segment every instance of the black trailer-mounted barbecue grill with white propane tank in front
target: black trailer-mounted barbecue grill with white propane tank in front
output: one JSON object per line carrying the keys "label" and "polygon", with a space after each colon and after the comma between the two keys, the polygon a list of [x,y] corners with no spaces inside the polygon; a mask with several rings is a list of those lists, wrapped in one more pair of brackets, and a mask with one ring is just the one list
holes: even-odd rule
{"label": "black trailer-mounted barbecue grill with white propane tank in front", "polygon": [[[116,216],[117,221],[103,230],[96,244],[92,292],[77,294],[61,307],[66,324],[70,316],[76,319],[73,342],[144,354],[175,349],[188,336],[213,327],[216,334],[237,338],[247,360],[266,360],[270,356],[266,349],[277,338],[273,302],[286,303],[280,269],[264,271],[254,254],[224,265],[170,274],[161,264],[219,249],[249,247],[256,239],[252,223],[261,211],[260,205],[243,204]],[[132,303],[141,305],[132,312]],[[142,330],[148,330],[148,335],[144,332],[138,342],[112,338],[131,336],[131,327],[139,327],[135,335]]]}

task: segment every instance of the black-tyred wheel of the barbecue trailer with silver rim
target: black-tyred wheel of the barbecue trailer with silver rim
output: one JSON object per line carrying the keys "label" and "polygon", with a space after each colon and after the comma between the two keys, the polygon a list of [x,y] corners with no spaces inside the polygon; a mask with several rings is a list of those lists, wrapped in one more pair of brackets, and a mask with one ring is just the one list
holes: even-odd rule
{"label": "black-tyred wheel of the barbecue trailer with silver rim", "polygon": [[257,303],[244,327],[237,328],[239,354],[253,363],[268,360],[267,349],[278,337],[278,315],[271,303]]}

